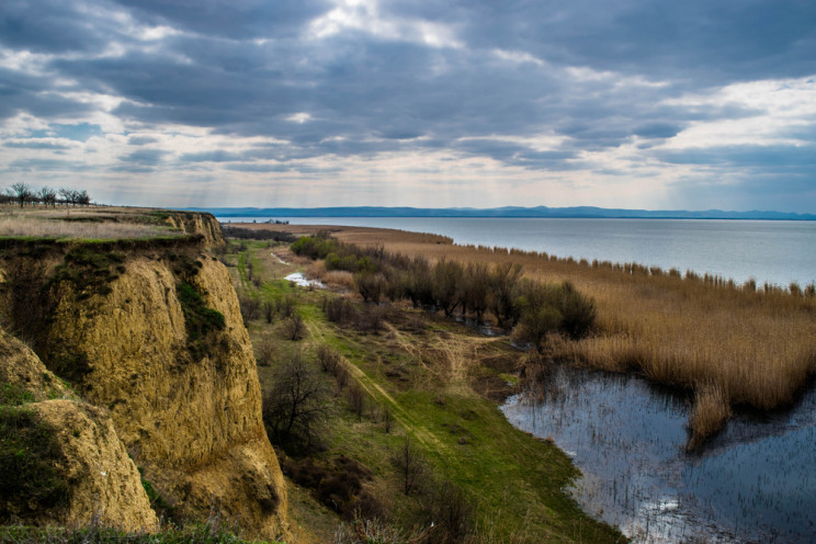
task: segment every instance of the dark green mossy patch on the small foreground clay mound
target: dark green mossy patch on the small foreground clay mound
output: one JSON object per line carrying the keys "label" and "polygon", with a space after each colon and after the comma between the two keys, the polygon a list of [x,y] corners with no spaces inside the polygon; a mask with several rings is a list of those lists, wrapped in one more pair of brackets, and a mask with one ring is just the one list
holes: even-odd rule
{"label": "dark green mossy patch on the small foreground clay mound", "polygon": [[55,429],[23,407],[0,406],[0,523],[68,503]]}

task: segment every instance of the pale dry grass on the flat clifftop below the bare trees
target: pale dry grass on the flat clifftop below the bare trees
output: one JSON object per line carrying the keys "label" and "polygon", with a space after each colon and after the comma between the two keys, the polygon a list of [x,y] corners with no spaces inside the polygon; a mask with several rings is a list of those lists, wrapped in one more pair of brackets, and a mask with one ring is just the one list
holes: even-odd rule
{"label": "pale dry grass on the flat clifftop below the bare trees", "polygon": [[143,214],[118,213],[107,208],[26,209],[0,208],[0,236],[122,239],[179,236],[184,233],[160,225],[146,224]]}

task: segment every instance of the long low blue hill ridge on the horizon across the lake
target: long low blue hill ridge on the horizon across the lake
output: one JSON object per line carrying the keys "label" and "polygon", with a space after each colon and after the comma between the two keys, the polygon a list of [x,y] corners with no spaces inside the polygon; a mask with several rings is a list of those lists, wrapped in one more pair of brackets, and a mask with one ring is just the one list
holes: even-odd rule
{"label": "long low blue hill ridge on the horizon across the lake", "polygon": [[790,212],[724,212],[705,209],[622,209],[594,206],[575,207],[190,207],[188,211],[209,212],[218,217],[506,217],[506,218],[604,218],[604,219],[764,219],[764,220],[816,220],[814,214]]}

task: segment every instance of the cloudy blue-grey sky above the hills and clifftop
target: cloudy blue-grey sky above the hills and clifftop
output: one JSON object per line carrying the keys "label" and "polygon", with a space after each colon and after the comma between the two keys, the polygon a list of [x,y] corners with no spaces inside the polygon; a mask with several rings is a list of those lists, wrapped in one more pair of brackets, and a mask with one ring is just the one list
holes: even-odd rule
{"label": "cloudy blue-grey sky above the hills and clifftop", "polygon": [[816,213],[814,0],[0,2],[0,189]]}

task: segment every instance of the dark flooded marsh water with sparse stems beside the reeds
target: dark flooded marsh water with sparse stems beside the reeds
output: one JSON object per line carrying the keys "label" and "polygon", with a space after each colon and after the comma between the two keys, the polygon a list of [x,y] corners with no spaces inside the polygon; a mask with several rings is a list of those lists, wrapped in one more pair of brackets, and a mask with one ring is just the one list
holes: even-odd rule
{"label": "dark flooded marsh water with sparse stems beside the reeds", "polygon": [[816,392],[702,454],[684,451],[688,400],[633,376],[558,367],[502,411],[567,451],[576,500],[635,542],[816,542]]}

